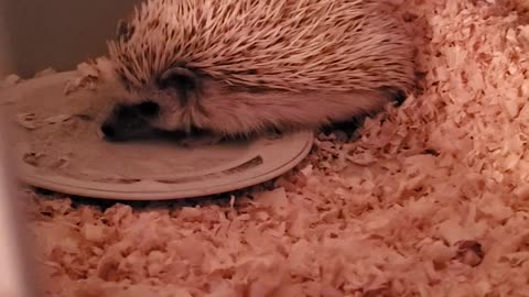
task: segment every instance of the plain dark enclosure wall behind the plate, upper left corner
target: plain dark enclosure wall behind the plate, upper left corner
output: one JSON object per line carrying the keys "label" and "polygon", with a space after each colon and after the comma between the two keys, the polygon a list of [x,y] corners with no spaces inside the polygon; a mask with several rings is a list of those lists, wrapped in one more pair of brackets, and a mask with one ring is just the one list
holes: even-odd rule
{"label": "plain dark enclosure wall behind the plate, upper left corner", "polygon": [[[23,78],[53,67],[74,70],[77,64],[106,53],[118,20],[140,0],[0,0],[9,12],[0,30],[9,33],[13,73]],[[1,8],[0,8],[1,9]],[[1,46],[0,32],[0,46]],[[0,61],[1,65],[1,61]],[[1,66],[0,66],[1,67]],[[0,70],[1,72],[1,70]]]}

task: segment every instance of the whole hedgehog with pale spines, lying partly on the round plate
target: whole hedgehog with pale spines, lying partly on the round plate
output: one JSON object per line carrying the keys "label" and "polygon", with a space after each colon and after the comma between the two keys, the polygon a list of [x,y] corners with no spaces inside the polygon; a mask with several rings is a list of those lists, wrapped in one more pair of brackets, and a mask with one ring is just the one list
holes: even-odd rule
{"label": "whole hedgehog with pale spines, lying partly on the round plate", "polygon": [[147,0],[107,45],[112,141],[319,131],[414,86],[412,38],[378,0]]}

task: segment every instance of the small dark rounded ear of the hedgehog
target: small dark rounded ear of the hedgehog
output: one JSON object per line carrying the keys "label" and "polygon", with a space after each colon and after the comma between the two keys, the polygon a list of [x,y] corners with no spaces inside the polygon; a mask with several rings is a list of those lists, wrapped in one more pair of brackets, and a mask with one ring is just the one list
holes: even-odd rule
{"label": "small dark rounded ear of the hedgehog", "polygon": [[165,70],[158,80],[161,89],[173,89],[180,92],[183,106],[188,103],[190,95],[198,89],[198,82],[197,75],[184,67]]}

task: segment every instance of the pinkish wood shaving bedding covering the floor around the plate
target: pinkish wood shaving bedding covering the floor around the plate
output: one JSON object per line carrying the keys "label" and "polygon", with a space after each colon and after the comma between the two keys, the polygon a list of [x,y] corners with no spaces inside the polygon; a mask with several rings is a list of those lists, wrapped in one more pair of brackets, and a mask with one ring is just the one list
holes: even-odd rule
{"label": "pinkish wood shaving bedding covering the floor around the plate", "polygon": [[527,1],[392,2],[422,92],[354,142],[321,135],[272,185],[140,205],[22,191],[46,296],[527,296]]}

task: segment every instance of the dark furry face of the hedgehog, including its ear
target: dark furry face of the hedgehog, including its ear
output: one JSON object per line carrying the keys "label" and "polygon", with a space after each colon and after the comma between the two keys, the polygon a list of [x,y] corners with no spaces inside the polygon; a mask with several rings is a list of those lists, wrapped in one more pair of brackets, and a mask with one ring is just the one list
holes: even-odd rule
{"label": "dark furry face of the hedgehog, including its ear", "polygon": [[192,114],[199,107],[196,75],[175,67],[154,80],[114,106],[100,127],[106,140],[127,141],[163,131],[184,135],[193,130]]}

